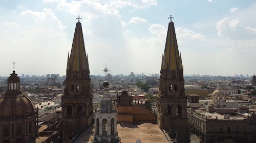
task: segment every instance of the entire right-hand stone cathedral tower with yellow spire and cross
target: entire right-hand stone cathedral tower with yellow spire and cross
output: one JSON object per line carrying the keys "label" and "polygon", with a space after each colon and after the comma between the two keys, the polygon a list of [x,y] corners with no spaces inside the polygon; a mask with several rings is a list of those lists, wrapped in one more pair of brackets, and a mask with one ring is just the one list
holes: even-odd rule
{"label": "entire right-hand stone cathedral tower with yellow spire and cross", "polygon": [[178,142],[189,142],[183,66],[172,20],[168,25],[160,73],[158,125],[162,130],[172,132],[171,138]]}

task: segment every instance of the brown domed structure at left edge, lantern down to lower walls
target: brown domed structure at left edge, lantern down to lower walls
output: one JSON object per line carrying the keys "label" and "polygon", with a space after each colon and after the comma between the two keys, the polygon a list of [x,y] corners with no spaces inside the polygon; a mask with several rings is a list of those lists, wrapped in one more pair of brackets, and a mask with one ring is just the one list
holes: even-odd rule
{"label": "brown domed structure at left edge, lantern down to lower walls", "polygon": [[34,142],[38,135],[38,110],[20,91],[15,71],[7,82],[7,92],[0,97],[0,142]]}

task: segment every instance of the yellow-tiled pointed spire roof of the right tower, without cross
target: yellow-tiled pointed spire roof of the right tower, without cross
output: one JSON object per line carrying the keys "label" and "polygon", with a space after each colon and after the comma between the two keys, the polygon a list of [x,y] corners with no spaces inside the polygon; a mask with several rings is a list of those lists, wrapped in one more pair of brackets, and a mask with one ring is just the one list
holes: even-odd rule
{"label": "yellow-tiled pointed spire roof of the right tower, without cross", "polygon": [[162,58],[162,70],[167,70],[167,78],[170,77],[170,71],[176,71],[178,76],[178,70],[182,68],[182,61],[179,55],[179,49],[175,34],[174,22],[170,21],[168,25],[168,31],[166,36],[164,54]]}

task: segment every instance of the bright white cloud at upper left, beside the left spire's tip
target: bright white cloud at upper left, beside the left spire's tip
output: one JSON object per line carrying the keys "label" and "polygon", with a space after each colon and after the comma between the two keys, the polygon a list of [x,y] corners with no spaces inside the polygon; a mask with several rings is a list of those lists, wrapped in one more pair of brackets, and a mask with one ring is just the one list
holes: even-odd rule
{"label": "bright white cloud at upper left, beside the left spire's tip", "polygon": [[57,27],[60,29],[65,28],[65,26],[61,23],[61,21],[55,16],[51,9],[44,9],[42,12],[26,10],[20,13],[22,16],[31,16],[37,23],[48,23],[49,18],[57,22]]}

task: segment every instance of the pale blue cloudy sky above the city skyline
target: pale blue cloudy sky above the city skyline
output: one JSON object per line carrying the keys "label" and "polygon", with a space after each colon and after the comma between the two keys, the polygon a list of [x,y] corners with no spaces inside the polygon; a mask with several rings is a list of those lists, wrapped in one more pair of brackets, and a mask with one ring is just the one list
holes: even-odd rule
{"label": "pale blue cloudy sky above the city skyline", "polygon": [[169,15],[185,75],[256,74],[256,2],[0,1],[0,76],[66,74],[80,15],[90,73],[160,72]]}

